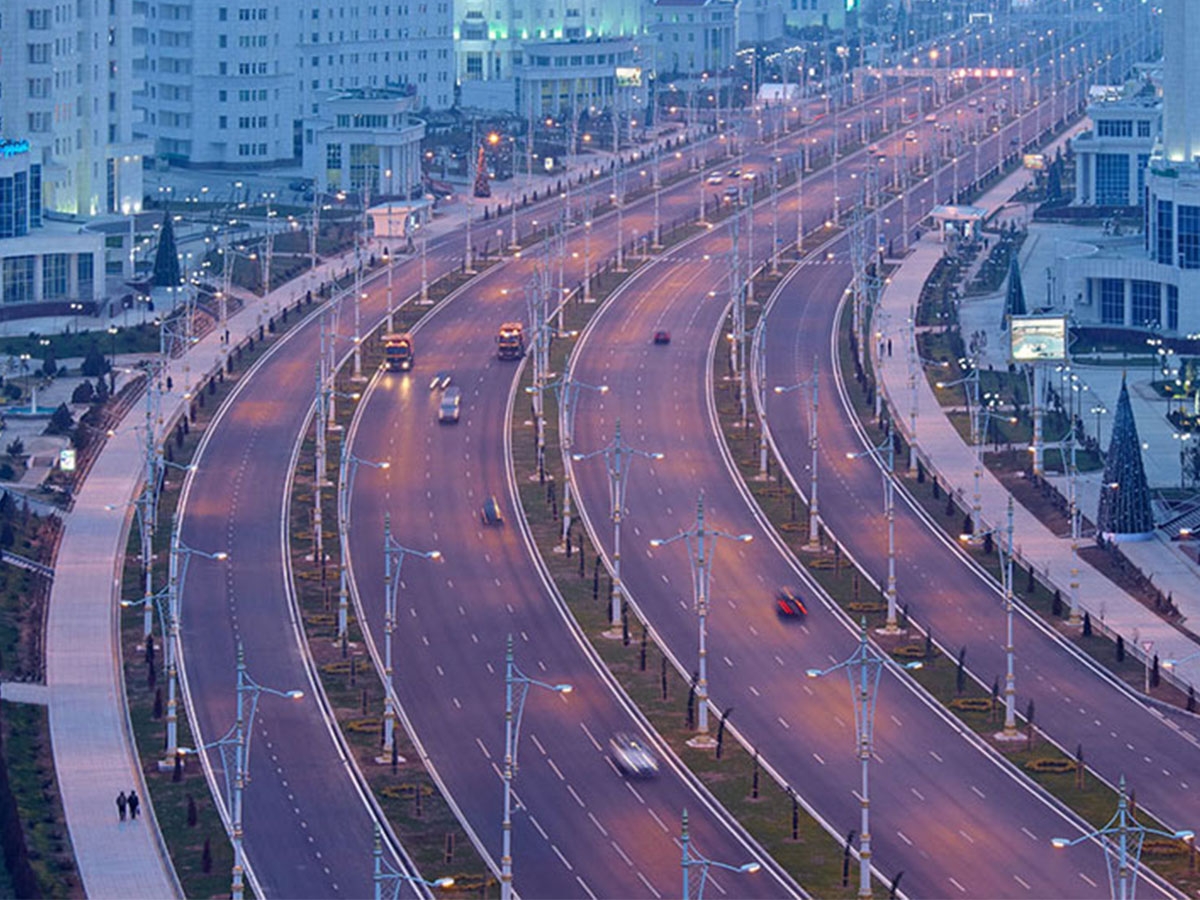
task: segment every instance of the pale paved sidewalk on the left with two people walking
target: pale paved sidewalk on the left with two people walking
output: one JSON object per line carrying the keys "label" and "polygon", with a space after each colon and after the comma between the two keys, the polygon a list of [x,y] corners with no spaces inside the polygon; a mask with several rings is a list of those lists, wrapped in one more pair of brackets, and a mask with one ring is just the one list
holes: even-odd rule
{"label": "pale paved sidewalk on the left with two people walking", "polygon": [[[325,263],[320,271],[346,265]],[[256,299],[229,319],[232,343],[256,331],[265,317],[304,290],[304,278]],[[175,390],[163,397],[170,421],[184,392],[222,360],[214,329],[185,356],[172,361]],[[96,458],[74,509],[64,518],[46,632],[46,691],[54,768],[79,876],[89,898],[175,898],[179,882],[158,833],[142,780],[125,707],[119,653],[118,590],[127,511],[142,476],[137,415],[128,416]],[[107,586],[107,587],[104,587]],[[107,640],[104,636],[107,635]],[[146,816],[136,828],[118,827],[114,800],[136,787]]]}

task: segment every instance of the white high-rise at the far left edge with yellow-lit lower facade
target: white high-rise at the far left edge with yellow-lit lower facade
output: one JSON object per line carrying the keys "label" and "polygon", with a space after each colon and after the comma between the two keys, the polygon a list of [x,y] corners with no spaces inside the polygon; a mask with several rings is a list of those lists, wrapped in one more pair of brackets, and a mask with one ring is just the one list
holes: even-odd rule
{"label": "white high-rise at the far left edge with yellow-lit lower facade", "polygon": [[142,206],[136,23],[133,0],[0,5],[0,139],[28,142],[48,214]]}

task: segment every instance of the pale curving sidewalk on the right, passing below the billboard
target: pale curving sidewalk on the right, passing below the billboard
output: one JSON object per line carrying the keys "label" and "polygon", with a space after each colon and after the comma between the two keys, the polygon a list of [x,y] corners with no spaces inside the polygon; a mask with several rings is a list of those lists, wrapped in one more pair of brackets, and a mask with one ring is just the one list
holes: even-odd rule
{"label": "pale curving sidewalk on the right, passing below the billboard", "polygon": [[[1016,170],[973,205],[983,206],[989,212],[1007,203],[1022,184],[1030,178],[1025,170]],[[880,299],[880,343],[889,340],[902,353],[893,356],[878,353],[880,343],[875,344],[874,365],[880,373],[881,390],[895,410],[895,421],[906,439],[913,440],[928,462],[931,472],[948,490],[962,497],[974,493],[974,451],[962,439],[950,424],[944,410],[934,395],[934,389],[924,373],[918,374],[916,433],[912,433],[912,390],[908,384],[908,353],[916,352],[908,347],[907,319],[910,310],[919,296],[925,280],[932,272],[942,257],[944,245],[937,241],[930,232],[913,245],[912,252],[904,259],[884,288]],[[1008,491],[986,468],[980,481],[982,522],[977,528],[995,527],[1004,522],[1008,506]],[[1044,577],[1057,587],[1064,599],[1070,598],[1070,569],[1074,565],[1074,553],[1069,538],[1056,538],[1021,504],[1014,510],[1014,541],[1016,556],[1032,564]],[[1122,544],[1121,548],[1144,571],[1154,574],[1154,584],[1164,593],[1172,592],[1175,601],[1184,617],[1200,622],[1200,574],[1194,569],[1184,569],[1178,560],[1158,541],[1144,544]],[[1133,596],[1117,588],[1087,563],[1079,565],[1079,602],[1080,607],[1091,614],[1092,622],[1109,631],[1121,634],[1130,652],[1141,656],[1141,642],[1153,641],[1152,654],[1159,659],[1181,659],[1196,650],[1194,642],[1180,634],[1175,628],[1163,622]],[[1178,666],[1172,673],[1188,684],[1200,684],[1200,660],[1193,660]]]}

